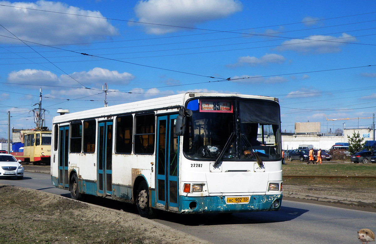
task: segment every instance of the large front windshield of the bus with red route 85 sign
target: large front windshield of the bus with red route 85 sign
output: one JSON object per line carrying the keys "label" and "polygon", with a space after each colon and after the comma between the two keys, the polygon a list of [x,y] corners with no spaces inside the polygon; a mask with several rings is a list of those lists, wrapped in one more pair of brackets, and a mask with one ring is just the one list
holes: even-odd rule
{"label": "large front windshield of the bus with red route 85 sign", "polygon": [[256,161],[255,152],[263,161],[280,159],[277,102],[201,98],[189,101],[186,108],[193,112],[183,139],[187,158],[213,161],[224,150],[224,161]]}

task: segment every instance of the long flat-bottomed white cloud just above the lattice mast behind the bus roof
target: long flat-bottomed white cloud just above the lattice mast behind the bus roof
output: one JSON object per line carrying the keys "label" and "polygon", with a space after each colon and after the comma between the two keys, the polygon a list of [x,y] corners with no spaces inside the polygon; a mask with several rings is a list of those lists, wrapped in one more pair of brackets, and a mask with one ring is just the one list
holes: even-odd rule
{"label": "long flat-bottomed white cloud just above the lattice mast behind the bus roof", "polygon": [[[118,71],[110,71],[103,68],[94,68],[89,71],[74,72],[70,74],[75,80],[79,81],[86,85],[99,85],[102,86],[105,82],[109,84],[124,85],[128,84],[129,81],[133,80],[134,75],[124,72],[119,73]],[[64,81],[64,84],[77,85],[77,81],[72,80],[72,78],[67,75],[61,75],[61,80]]]}

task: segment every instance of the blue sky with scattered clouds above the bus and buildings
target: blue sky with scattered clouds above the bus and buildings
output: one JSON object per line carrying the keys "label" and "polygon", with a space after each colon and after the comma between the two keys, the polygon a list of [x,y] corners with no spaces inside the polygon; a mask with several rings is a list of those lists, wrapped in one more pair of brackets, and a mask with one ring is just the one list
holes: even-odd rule
{"label": "blue sky with scattered clouds above the bus and buildings", "polygon": [[51,127],[59,108],[103,107],[104,83],[108,105],[183,92],[274,96],[287,132],[307,121],[321,132],[371,127],[324,114],[376,111],[374,1],[0,1],[0,24],[0,137],[8,111],[14,128],[35,127],[39,88]]}

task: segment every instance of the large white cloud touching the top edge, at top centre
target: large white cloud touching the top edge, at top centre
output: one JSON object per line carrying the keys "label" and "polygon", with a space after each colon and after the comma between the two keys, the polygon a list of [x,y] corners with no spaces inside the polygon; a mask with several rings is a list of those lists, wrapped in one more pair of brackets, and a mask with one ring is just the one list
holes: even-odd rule
{"label": "large white cloud touching the top edge, at top centre", "polygon": [[195,27],[225,18],[242,8],[238,0],[141,0],[134,10],[139,22],[170,25],[142,24],[147,33],[160,35],[182,30],[172,26]]}

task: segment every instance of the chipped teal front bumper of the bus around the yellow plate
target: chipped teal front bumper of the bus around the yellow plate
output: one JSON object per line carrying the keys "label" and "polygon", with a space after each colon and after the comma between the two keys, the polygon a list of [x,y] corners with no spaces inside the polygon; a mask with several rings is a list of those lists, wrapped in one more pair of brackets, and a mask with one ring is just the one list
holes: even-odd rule
{"label": "chipped teal front bumper of the bus around the yellow plate", "polygon": [[[277,207],[273,202],[279,200]],[[196,208],[193,208],[194,203]],[[186,197],[180,196],[180,212],[182,213],[221,213],[221,212],[253,212],[279,210],[282,203],[280,195],[253,195],[249,204],[226,204],[224,196]],[[191,206],[190,206],[191,205]]]}

